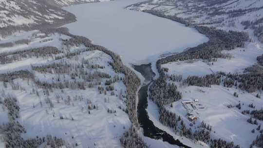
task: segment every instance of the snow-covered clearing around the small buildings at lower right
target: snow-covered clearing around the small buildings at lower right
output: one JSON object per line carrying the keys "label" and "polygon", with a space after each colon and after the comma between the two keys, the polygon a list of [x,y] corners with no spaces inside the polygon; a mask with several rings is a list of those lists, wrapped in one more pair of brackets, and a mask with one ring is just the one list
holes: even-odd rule
{"label": "snow-covered clearing around the small buildings at lower right", "polygon": [[[193,110],[193,113],[198,117],[198,122],[205,121],[212,126],[211,137],[233,141],[236,145],[239,144],[241,148],[248,148],[257,135],[260,134],[258,130],[255,130],[255,133],[251,132],[257,126],[249,124],[246,120],[250,116],[241,113],[244,110],[260,110],[263,107],[263,100],[257,98],[255,94],[218,85],[212,85],[211,88],[182,87],[179,88],[179,91],[183,93],[183,99],[173,103],[172,108],[169,105],[167,108],[188,121],[186,116],[188,111],[181,101],[198,99],[198,103],[202,104],[205,109]],[[234,92],[239,93],[238,98],[233,96]],[[235,106],[239,103],[241,103],[241,110],[236,107],[227,108],[227,105],[232,104]],[[255,109],[248,107],[251,103],[256,106]],[[258,123],[259,125],[263,124],[259,120]]]}

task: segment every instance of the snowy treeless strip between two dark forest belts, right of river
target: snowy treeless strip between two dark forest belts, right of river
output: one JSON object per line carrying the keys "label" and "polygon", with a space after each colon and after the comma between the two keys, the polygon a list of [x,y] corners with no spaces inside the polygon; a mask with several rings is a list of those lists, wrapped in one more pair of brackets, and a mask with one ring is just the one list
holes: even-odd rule
{"label": "snowy treeless strip between two dark forest belts, right of river", "polygon": [[218,58],[216,62],[205,60],[188,60],[179,62],[169,62],[162,67],[169,68],[168,74],[182,74],[183,78],[189,75],[203,76],[216,72],[242,73],[243,70],[257,63],[257,56],[263,54],[262,44],[251,42],[244,48],[236,48],[231,51],[223,51],[233,57],[231,59]]}

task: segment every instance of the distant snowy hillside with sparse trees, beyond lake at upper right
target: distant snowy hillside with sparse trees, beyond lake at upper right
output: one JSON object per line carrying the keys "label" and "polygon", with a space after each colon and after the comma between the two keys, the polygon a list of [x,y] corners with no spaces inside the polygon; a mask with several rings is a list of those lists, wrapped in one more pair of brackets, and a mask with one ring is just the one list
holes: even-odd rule
{"label": "distant snowy hillside with sparse trees, beyond lake at upper right", "polygon": [[157,12],[178,18],[178,21],[225,30],[251,28],[263,41],[262,0],[149,0],[127,8],[152,14]]}

